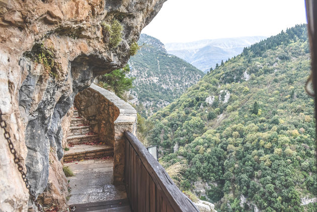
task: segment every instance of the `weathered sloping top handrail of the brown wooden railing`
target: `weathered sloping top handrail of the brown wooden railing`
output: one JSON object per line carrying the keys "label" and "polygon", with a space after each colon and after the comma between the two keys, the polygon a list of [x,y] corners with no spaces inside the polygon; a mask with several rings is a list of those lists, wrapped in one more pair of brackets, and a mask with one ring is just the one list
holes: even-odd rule
{"label": "weathered sloping top handrail of the brown wooden railing", "polygon": [[152,180],[156,185],[156,190],[162,189],[163,195],[166,196],[166,199],[173,209],[176,212],[199,212],[195,204],[178,189],[166,173],[165,169],[148,153],[140,141],[131,132],[125,131],[124,134],[144,165],[146,171],[152,177]]}

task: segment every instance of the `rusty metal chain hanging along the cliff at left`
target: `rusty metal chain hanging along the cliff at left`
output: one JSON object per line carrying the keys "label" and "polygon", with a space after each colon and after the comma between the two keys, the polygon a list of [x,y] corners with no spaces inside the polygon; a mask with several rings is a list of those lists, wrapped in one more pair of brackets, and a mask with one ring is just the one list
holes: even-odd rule
{"label": "rusty metal chain hanging along the cliff at left", "polygon": [[8,141],[8,145],[9,145],[9,148],[10,148],[10,152],[12,153],[12,155],[14,156],[14,163],[18,165],[18,170],[19,172],[21,173],[21,176],[22,176],[22,179],[23,181],[25,182],[25,186],[26,188],[29,190],[29,194],[30,194],[30,198],[31,200],[34,202],[34,204],[37,206],[38,210],[39,211],[42,211],[43,212],[43,208],[42,208],[42,205],[40,205],[40,203],[36,200],[36,197],[35,197],[35,192],[31,190],[31,185],[29,184],[29,181],[28,179],[26,178],[26,172],[23,171],[23,166],[21,165],[21,162],[20,162],[20,159],[18,158],[17,156],[17,151],[16,149],[14,148],[14,145],[11,141],[11,136],[10,136],[10,133],[9,131],[7,131],[6,127],[7,127],[7,123],[6,121],[3,119],[3,116],[4,114],[2,113],[1,109],[0,109],[0,125],[1,125],[1,128],[3,128],[5,130],[5,138],[7,139]]}

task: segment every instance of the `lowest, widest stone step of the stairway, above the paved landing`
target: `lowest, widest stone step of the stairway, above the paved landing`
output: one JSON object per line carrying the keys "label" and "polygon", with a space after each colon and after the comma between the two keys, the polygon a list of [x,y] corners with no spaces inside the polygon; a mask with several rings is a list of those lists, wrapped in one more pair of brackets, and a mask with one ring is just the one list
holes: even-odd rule
{"label": "lowest, widest stone step of the stairway, above the paved landing", "polygon": [[63,161],[79,161],[113,156],[113,147],[108,145],[75,145],[64,151]]}

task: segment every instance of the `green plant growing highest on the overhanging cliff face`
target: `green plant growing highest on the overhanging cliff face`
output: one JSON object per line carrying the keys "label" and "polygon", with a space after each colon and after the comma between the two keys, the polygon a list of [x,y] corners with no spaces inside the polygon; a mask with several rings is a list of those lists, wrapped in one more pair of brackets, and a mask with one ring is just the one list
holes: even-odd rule
{"label": "green plant growing highest on the overhanging cliff face", "polygon": [[122,40],[123,26],[121,23],[117,19],[114,19],[111,25],[102,22],[101,26],[103,27],[104,33],[109,36],[109,46],[111,48],[117,47]]}

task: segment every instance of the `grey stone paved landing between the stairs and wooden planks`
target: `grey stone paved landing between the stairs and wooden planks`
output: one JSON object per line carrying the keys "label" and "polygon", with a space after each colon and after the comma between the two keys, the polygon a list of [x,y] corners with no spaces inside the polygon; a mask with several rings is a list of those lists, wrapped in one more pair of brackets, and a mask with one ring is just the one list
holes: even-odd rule
{"label": "grey stone paved landing between the stairs and wooden planks", "polygon": [[93,159],[65,163],[73,171],[69,177],[70,204],[109,201],[127,197],[124,186],[111,184],[113,159]]}

